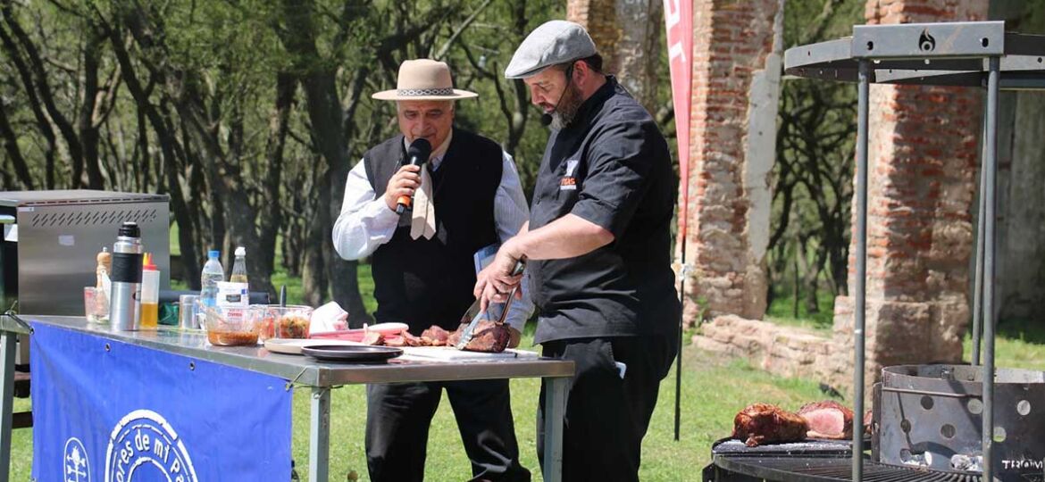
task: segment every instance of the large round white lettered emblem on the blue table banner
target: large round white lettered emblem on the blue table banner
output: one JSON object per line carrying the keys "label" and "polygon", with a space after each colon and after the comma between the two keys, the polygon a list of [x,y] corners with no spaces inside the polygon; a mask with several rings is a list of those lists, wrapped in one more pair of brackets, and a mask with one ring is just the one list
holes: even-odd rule
{"label": "large round white lettered emblem on the blue table banner", "polygon": [[113,428],[106,482],[199,482],[184,440],[159,413],[135,410]]}

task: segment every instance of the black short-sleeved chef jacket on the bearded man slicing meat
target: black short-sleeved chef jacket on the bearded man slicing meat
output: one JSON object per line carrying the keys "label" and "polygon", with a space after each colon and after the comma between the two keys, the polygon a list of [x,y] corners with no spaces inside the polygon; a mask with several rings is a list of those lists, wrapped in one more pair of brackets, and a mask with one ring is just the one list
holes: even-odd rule
{"label": "black short-sleeved chef jacket on the bearded man slicing meat", "polygon": [[530,230],[574,214],[613,242],[562,260],[531,261],[535,342],[677,330],[671,269],[677,183],[648,112],[609,76],[574,121],[553,130],[537,174]]}

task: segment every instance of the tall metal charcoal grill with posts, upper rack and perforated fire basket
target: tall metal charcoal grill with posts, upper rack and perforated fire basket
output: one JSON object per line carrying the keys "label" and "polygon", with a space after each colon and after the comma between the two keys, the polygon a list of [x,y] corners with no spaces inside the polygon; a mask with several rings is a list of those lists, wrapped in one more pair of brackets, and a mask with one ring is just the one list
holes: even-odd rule
{"label": "tall metal charcoal grill with posts, upper rack and perforated fire basket", "polygon": [[983,89],[973,366],[883,370],[883,384],[875,394],[879,403],[870,458],[860,436],[854,437],[845,454],[823,453],[822,448],[730,451],[717,443],[705,480],[1045,481],[1045,373],[996,371],[994,364],[998,94],[1003,89],[1045,91],[1045,37],[1008,33],[1004,28],[1004,22],[857,25],[851,38],[785,52],[788,75],[857,83],[852,291],[856,434],[863,433],[860,414],[864,413],[869,86]]}

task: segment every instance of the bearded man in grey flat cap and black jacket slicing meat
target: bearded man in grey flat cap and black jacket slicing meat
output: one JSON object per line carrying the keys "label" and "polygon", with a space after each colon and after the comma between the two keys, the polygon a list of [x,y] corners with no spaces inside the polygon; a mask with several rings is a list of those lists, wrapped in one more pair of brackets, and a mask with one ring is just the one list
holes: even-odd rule
{"label": "bearded man in grey flat cap and black jacket slicing meat", "polygon": [[[529,225],[480,273],[475,294],[503,300],[520,282],[512,266],[529,260],[535,341],[577,369],[562,479],[636,481],[642,439],[677,352],[677,182],[653,118],[601,69],[591,38],[572,22],[537,27],[515,51],[505,76],[524,79],[552,132]],[[537,427],[544,387],[540,397]]]}

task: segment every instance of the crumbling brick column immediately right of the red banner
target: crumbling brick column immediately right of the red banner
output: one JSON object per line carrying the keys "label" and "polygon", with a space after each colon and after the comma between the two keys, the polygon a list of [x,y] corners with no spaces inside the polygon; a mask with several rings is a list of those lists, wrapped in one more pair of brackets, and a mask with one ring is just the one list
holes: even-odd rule
{"label": "crumbling brick column immediately right of the red banner", "polygon": [[[780,55],[777,0],[696,0],[687,284],[712,314],[761,319],[766,310],[769,172]],[[777,42],[777,49],[780,42]],[[676,115],[678,115],[676,113]]]}

